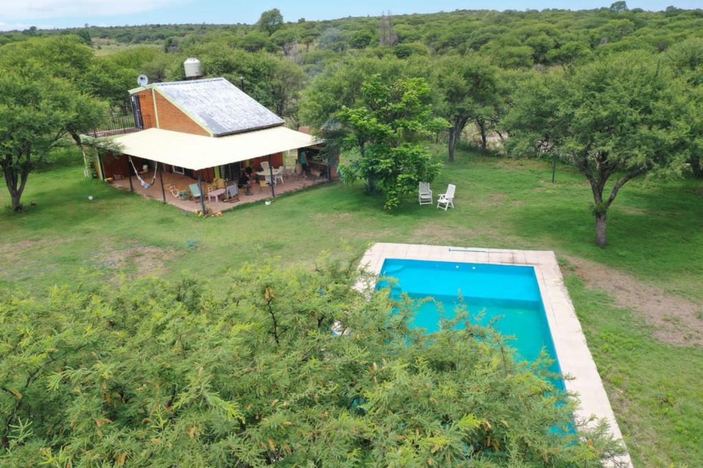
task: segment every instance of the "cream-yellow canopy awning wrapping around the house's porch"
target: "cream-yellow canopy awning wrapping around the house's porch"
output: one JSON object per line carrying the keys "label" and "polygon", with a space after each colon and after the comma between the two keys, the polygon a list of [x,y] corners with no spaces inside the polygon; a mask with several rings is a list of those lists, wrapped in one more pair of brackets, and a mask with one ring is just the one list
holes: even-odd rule
{"label": "cream-yellow canopy awning wrapping around the house's porch", "polygon": [[320,141],[283,126],[226,137],[204,137],[150,128],[112,137],[122,153],[191,170],[205,169],[282,151],[314,146]]}

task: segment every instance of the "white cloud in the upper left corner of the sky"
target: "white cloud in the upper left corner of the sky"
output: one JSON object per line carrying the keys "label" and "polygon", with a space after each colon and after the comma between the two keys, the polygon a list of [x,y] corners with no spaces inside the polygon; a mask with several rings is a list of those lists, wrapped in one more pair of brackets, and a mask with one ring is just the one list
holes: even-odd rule
{"label": "white cloud in the upper left corner of the sky", "polygon": [[[174,6],[184,0],[0,0],[4,20],[129,15]],[[9,23],[0,23],[0,27]]]}

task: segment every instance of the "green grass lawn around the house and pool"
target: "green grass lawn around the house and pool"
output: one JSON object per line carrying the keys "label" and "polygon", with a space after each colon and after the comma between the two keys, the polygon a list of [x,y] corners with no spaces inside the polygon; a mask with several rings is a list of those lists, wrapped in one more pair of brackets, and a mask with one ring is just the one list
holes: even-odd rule
{"label": "green grass lawn around the house and pool", "polygon": [[[448,182],[457,198],[447,213],[412,197],[387,213],[360,186],[330,184],[203,220],[84,180],[82,167],[61,167],[30,177],[24,201],[36,206],[0,214],[0,290],[41,294],[79,283],[84,270],[110,282],[191,274],[224,286],[245,260],[312,264],[322,251],[361,255],[373,241],[533,248],[688,298],[701,313],[682,331],[703,327],[703,184],[631,182],[614,202],[602,250],[593,244],[590,188],[567,168],[551,184],[546,163],[460,153],[432,184],[435,193]],[[8,203],[3,189],[0,206]],[[700,466],[703,350],[657,341],[636,310],[616,308],[573,274],[567,285],[636,466]]]}

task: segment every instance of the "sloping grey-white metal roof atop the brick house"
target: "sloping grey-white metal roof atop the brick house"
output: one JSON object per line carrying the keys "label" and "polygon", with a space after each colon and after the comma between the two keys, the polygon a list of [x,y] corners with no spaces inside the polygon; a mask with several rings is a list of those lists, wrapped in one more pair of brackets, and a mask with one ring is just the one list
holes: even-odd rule
{"label": "sloping grey-white metal roof atop the brick house", "polygon": [[214,137],[276,127],[285,121],[224,78],[152,85]]}

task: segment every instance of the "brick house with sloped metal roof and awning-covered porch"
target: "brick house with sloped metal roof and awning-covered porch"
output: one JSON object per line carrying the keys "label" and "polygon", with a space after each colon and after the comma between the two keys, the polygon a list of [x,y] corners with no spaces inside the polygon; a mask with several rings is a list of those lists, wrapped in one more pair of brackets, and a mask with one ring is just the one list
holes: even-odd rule
{"label": "brick house with sloped metal roof and awning-covered porch", "polygon": [[[259,188],[241,201],[269,198],[336,176],[336,161],[330,165],[328,158],[319,156],[321,141],[285,127],[282,118],[224,78],[147,84],[129,94],[136,131],[110,137],[120,145],[120,154],[96,158],[98,177],[122,188],[205,211],[209,191],[214,192],[207,197],[217,204],[214,210],[236,205],[221,198],[231,194],[232,189],[224,189],[236,184],[245,167],[252,167]],[[292,150],[298,156],[305,153],[309,177],[295,177],[295,161],[284,161],[284,153]],[[204,194],[191,197],[199,203],[183,199],[193,184]]]}

